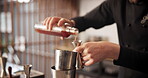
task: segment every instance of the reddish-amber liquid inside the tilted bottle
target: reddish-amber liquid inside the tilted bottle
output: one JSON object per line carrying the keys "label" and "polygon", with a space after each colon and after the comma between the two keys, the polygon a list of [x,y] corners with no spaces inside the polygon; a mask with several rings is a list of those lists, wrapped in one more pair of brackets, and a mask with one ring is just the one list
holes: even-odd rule
{"label": "reddish-amber liquid inside the tilted bottle", "polygon": [[60,36],[60,37],[69,37],[70,35],[77,35],[77,33],[71,33],[71,32],[66,32],[66,31],[54,32],[54,31],[46,31],[46,30],[41,30],[41,29],[35,29],[35,31],[42,33],[42,34],[54,35],[54,36]]}

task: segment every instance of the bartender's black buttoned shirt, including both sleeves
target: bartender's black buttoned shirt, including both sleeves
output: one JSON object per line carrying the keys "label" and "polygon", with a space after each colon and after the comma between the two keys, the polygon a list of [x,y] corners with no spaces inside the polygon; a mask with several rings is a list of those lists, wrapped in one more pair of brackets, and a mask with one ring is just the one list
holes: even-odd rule
{"label": "bartender's black buttoned shirt, including both sleeves", "polygon": [[131,4],[128,0],[107,0],[85,16],[73,18],[76,28],[101,28],[117,24],[121,46],[114,64],[148,73],[148,0]]}

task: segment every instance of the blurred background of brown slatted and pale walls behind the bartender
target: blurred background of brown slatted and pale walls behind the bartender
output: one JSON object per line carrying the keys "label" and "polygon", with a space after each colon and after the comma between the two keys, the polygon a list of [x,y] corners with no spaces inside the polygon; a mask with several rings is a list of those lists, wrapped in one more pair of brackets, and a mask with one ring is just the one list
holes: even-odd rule
{"label": "blurred background of brown slatted and pale walls behind the bartender", "polygon": [[[34,24],[46,17],[72,18],[85,15],[104,0],[0,0],[0,55],[16,65],[32,64],[32,69],[51,78],[55,49],[72,50],[69,39],[39,34]],[[90,28],[79,35],[83,42],[107,40],[118,43],[115,24],[99,30]],[[78,78],[116,78],[118,67],[111,59],[85,67]]]}

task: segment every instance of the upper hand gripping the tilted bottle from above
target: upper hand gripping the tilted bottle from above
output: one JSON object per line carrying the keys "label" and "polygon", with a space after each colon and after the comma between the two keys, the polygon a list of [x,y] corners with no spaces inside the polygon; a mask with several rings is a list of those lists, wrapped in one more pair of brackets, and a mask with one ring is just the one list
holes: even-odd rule
{"label": "upper hand gripping the tilted bottle from above", "polygon": [[47,29],[52,30],[53,26],[65,26],[65,23],[68,23],[68,26],[75,25],[73,20],[61,17],[47,17],[42,24],[47,26]]}

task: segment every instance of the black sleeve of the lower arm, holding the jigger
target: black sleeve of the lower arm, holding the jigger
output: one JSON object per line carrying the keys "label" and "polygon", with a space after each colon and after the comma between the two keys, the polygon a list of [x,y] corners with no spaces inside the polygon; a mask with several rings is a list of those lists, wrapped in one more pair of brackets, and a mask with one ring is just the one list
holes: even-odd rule
{"label": "black sleeve of the lower arm, holding the jigger", "polygon": [[121,46],[118,60],[114,60],[115,65],[148,73],[148,52],[139,52]]}

